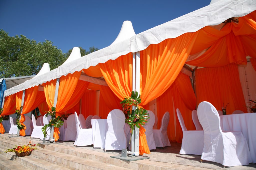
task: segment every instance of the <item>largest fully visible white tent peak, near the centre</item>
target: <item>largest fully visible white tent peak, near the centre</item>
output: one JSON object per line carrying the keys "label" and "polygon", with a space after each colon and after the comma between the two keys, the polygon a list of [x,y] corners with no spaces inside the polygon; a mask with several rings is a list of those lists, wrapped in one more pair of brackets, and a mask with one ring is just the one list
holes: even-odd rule
{"label": "largest fully visible white tent peak, near the centre", "polygon": [[121,42],[123,40],[126,40],[128,38],[131,38],[134,35],[136,35],[136,34],[133,30],[132,22],[131,21],[124,21],[118,36],[116,37],[115,41],[111,45],[119,43],[119,42]]}

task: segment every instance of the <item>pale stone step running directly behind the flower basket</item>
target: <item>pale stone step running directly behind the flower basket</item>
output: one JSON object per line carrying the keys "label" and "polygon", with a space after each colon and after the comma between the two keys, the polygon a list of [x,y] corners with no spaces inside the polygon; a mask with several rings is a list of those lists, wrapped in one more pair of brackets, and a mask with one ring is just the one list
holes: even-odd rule
{"label": "pale stone step running directly behind the flower basket", "polygon": [[[12,141],[14,140],[11,138],[11,140],[1,139],[0,145],[12,148],[13,145],[18,145],[19,143]],[[60,153],[56,151],[51,151],[48,149],[40,148],[37,150],[34,150],[30,156],[34,156],[35,158],[54,163],[69,169],[129,169],[124,168],[112,164],[107,164],[103,162],[97,162],[90,159],[81,158],[74,155],[69,155],[65,153]]]}

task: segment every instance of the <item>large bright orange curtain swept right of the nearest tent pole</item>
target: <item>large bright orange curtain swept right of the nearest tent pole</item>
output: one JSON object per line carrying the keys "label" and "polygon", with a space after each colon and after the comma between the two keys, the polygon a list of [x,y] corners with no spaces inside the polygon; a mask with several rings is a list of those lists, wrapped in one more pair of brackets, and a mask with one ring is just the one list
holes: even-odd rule
{"label": "large bright orange curtain swept right of the nearest tent pole", "polygon": [[198,32],[151,44],[141,51],[141,105],[161,96],[185,64]]}

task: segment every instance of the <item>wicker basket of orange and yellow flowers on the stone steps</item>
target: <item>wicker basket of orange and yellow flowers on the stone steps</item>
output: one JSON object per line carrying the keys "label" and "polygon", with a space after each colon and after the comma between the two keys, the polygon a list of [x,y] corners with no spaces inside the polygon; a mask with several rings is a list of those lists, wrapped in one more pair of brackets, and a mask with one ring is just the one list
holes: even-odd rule
{"label": "wicker basket of orange and yellow flowers on the stone steps", "polygon": [[19,157],[22,156],[28,156],[30,155],[30,153],[34,150],[37,149],[36,148],[36,144],[31,143],[31,140],[29,141],[29,143],[27,145],[23,145],[23,146],[18,146],[15,145],[15,147],[13,149],[7,149],[4,152],[15,152],[15,154]]}

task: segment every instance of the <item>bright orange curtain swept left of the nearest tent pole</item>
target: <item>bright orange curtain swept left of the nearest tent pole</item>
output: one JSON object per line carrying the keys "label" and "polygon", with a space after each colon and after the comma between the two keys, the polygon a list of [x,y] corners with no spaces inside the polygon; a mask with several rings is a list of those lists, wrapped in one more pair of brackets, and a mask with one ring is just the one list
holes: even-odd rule
{"label": "bright orange curtain swept left of the nearest tent pole", "polygon": [[123,100],[132,92],[132,53],[99,63],[101,73],[114,94]]}

